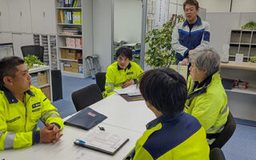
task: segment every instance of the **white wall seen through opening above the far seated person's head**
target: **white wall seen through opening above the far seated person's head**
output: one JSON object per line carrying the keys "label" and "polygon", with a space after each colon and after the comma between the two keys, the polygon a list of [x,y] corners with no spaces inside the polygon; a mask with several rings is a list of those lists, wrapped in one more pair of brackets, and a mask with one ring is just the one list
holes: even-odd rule
{"label": "white wall seen through opening above the far seated person's head", "polygon": [[142,2],[114,0],[114,41],[141,42]]}

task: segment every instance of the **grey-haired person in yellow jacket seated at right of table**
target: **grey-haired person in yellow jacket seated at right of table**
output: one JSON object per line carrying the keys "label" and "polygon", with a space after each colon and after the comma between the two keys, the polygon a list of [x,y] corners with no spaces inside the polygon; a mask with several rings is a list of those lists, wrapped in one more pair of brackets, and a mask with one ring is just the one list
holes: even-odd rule
{"label": "grey-haired person in yellow jacket seated at right of table", "polygon": [[220,57],[213,49],[204,49],[195,51],[190,62],[184,111],[202,124],[210,145],[224,129],[229,115],[226,91],[219,74]]}

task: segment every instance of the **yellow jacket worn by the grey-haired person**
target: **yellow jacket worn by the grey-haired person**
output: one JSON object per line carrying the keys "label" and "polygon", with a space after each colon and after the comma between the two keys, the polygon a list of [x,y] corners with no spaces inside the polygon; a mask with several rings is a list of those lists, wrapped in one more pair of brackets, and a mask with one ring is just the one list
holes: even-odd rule
{"label": "yellow jacket worn by the grey-haired person", "polygon": [[188,98],[184,111],[198,119],[206,134],[222,132],[229,107],[220,74],[217,72],[201,82],[201,85],[198,84],[198,87],[195,85],[196,82],[193,82],[190,76],[187,81]]}

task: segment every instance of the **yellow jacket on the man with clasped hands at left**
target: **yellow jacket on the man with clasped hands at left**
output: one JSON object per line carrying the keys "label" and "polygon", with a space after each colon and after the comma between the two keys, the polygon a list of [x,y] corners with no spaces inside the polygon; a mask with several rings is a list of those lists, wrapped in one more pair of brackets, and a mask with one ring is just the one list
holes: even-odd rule
{"label": "yellow jacket on the man with clasped hands at left", "polygon": [[57,109],[42,91],[34,86],[19,101],[4,86],[0,86],[0,150],[17,149],[40,141],[38,119],[63,127]]}

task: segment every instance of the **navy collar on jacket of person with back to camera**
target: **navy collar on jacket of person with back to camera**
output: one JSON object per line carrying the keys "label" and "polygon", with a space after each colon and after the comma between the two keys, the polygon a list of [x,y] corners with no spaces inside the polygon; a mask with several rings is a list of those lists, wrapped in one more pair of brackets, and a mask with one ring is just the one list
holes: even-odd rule
{"label": "navy collar on jacket of person with back to camera", "polygon": [[158,123],[163,123],[163,122],[170,122],[170,121],[174,121],[174,119],[182,116],[184,114],[184,112],[175,114],[174,116],[161,116],[159,118],[155,118],[153,121],[149,122],[146,124],[146,130],[150,130],[150,128],[157,126]]}

